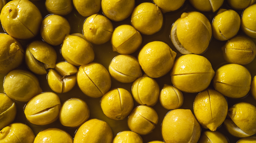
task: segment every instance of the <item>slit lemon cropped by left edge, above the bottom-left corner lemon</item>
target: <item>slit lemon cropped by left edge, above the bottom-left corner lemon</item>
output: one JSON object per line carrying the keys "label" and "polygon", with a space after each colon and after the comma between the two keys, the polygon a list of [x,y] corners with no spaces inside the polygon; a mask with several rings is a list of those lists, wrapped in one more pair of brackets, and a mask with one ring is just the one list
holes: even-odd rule
{"label": "slit lemon cropped by left edge, above the bottom-left corner lemon", "polygon": [[4,93],[0,93],[0,100],[0,129],[3,129],[15,119],[16,104]]}

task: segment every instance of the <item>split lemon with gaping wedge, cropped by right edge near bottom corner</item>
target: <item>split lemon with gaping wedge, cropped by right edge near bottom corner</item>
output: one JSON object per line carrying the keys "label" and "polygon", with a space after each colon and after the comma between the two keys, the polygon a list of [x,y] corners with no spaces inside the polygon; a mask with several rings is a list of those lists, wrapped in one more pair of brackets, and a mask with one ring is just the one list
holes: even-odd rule
{"label": "split lemon with gaping wedge, cropped by right edge near bottom corner", "polygon": [[236,137],[248,137],[256,133],[256,107],[250,103],[240,102],[228,109],[224,125],[227,131]]}

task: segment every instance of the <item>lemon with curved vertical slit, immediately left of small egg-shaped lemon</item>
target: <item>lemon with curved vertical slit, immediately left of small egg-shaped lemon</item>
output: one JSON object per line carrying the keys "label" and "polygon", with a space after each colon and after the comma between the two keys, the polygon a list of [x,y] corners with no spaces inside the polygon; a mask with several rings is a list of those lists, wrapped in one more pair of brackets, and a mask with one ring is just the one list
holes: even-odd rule
{"label": "lemon with curved vertical slit, immediately left of small egg-shaped lemon", "polygon": [[143,75],[133,82],[132,94],[141,105],[154,106],[159,97],[159,86],[153,78]]}

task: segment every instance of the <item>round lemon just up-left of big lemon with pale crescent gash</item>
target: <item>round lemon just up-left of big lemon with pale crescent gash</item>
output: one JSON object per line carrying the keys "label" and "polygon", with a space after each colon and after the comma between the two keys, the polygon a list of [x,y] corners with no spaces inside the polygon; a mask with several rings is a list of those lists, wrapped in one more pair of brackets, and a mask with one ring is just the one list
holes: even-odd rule
{"label": "round lemon just up-left of big lemon with pale crescent gash", "polygon": [[131,24],[142,34],[152,35],[163,25],[163,15],[158,6],[153,3],[141,3],[134,8]]}

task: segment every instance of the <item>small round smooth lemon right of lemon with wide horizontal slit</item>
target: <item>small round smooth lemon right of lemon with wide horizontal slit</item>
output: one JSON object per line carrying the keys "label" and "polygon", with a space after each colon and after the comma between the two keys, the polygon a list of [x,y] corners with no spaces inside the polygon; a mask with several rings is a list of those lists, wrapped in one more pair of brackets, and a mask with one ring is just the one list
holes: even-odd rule
{"label": "small round smooth lemon right of lemon with wide horizontal slit", "polygon": [[59,121],[63,126],[79,127],[90,115],[86,102],[79,98],[71,98],[63,103],[59,111]]}

